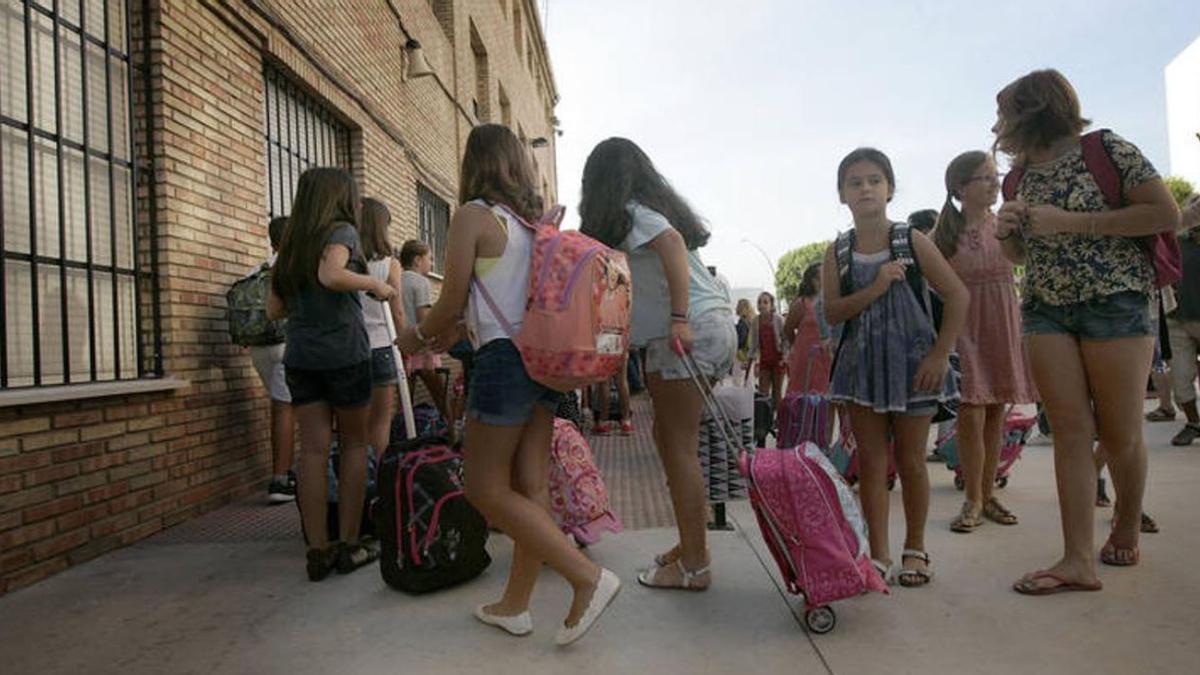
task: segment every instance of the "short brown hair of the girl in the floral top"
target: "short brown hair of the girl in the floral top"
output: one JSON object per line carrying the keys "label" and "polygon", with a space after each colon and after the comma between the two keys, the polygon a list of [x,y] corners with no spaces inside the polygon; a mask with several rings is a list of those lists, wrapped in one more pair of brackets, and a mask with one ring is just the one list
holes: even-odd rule
{"label": "short brown hair of the girl in the floral top", "polygon": [[1030,150],[1049,148],[1092,124],[1080,112],[1075,88],[1052,68],[1033,71],[1001,89],[996,107],[1000,119],[992,149],[1018,165],[1026,162]]}

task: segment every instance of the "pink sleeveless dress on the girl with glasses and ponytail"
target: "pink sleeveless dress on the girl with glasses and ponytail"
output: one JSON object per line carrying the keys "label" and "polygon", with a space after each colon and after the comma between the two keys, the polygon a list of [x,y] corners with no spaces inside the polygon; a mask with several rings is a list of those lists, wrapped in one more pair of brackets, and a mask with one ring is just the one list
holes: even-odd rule
{"label": "pink sleeveless dress on the girl with glasses and ponytail", "polygon": [[1032,404],[1038,400],[1021,345],[1021,310],[1013,265],[996,239],[996,219],[965,228],[950,267],[971,292],[967,323],[959,336],[962,402]]}

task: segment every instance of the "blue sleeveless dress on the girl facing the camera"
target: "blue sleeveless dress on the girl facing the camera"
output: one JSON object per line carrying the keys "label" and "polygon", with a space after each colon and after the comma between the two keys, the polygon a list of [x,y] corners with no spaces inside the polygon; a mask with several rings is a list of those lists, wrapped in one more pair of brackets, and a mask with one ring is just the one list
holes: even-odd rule
{"label": "blue sleeveless dress on the girl facing the camera", "polygon": [[[856,252],[853,256],[854,292],[874,283],[880,268],[890,259],[888,251]],[[844,324],[845,338],[829,384],[832,400],[857,404],[878,413],[904,413],[959,398],[956,378],[949,370],[941,392],[914,392],[912,388],[917,369],[937,338],[923,303],[912,287],[899,281]]]}

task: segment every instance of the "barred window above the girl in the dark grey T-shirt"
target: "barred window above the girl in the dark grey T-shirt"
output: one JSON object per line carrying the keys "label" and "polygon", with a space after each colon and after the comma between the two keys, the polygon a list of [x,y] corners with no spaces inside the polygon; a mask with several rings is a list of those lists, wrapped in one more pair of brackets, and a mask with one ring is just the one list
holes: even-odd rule
{"label": "barred window above the girl in the dark grey T-shirt", "polygon": [[350,168],[350,131],[282,72],[265,71],[266,216],[292,213],[296,181],[312,167]]}

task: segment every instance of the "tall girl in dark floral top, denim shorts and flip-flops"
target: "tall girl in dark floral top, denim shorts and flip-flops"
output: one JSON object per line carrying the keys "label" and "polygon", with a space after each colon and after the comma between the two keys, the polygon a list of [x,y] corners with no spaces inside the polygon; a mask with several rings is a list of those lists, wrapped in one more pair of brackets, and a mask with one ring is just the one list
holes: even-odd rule
{"label": "tall girl in dark floral top, denim shorts and flip-flops", "polygon": [[1109,210],[1084,162],[1075,90],[1062,73],[1034,71],[996,96],[996,149],[1024,175],[998,213],[996,237],[1026,262],[1026,347],[1054,429],[1063,555],[1014,584],[1021,593],[1098,591],[1092,528],[1092,442],[1108,454],[1116,522],[1100,549],[1105,565],[1136,565],[1146,446],[1142,399],[1153,356],[1150,293],[1154,269],[1138,239],[1170,232],[1180,210],[1135,145],[1100,132],[1124,207]]}

